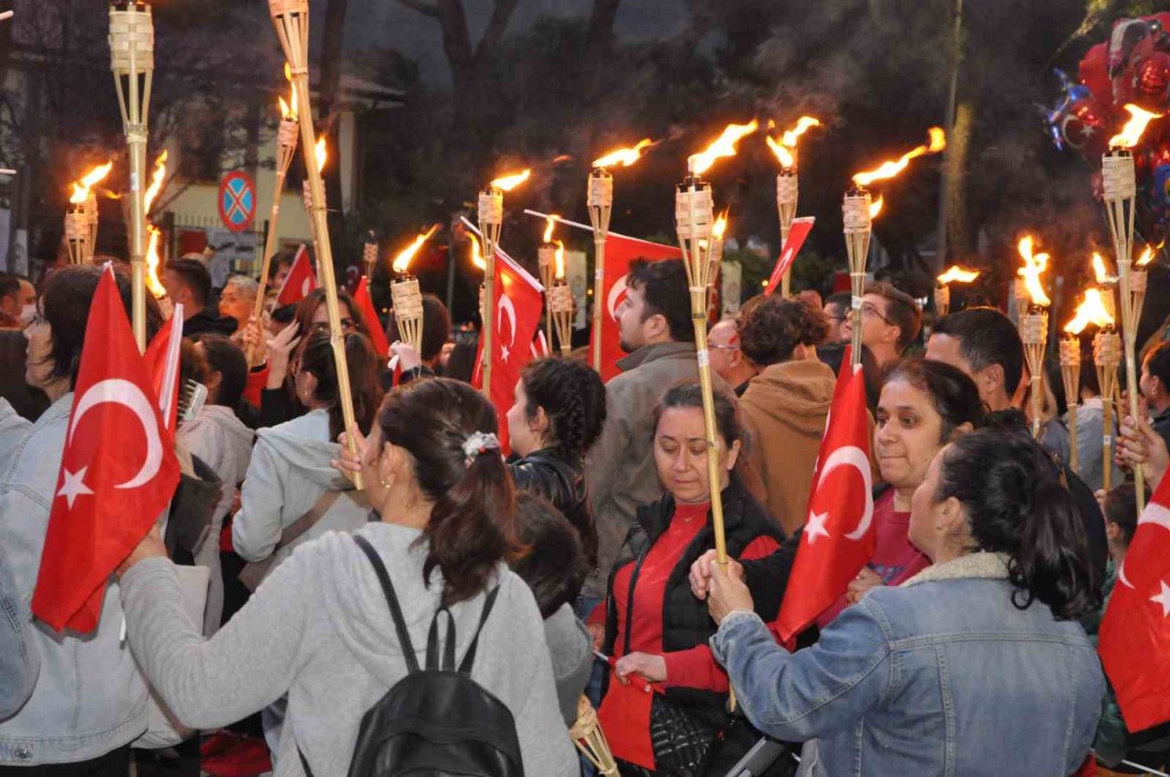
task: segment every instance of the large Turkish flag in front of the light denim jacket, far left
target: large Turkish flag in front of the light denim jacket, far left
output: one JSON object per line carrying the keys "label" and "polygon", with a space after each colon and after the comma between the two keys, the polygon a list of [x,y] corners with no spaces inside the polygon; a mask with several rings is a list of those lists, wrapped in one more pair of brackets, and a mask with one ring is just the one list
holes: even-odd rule
{"label": "large Turkish flag in front of the light denim jacket, far left", "polygon": [[85,633],[97,628],[110,575],[179,482],[112,269],[94,295],[74,391],[33,614],[56,631]]}

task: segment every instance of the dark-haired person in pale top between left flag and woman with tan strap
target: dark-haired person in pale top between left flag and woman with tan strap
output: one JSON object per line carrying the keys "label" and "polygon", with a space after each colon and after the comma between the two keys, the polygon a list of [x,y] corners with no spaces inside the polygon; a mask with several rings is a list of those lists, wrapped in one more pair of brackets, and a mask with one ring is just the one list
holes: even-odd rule
{"label": "dark-haired person in pale top between left flag and woman with tan strap", "polygon": [[[184,363],[188,362],[184,345]],[[193,380],[207,387],[207,400],[199,413],[179,426],[177,436],[188,451],[215,470],[220,479],[220,498],[212,514],[207,535],[195,549],[195,563],[211,570],[211,586],[204,611],[204,633],[208,637],[220,627],[223,616],[223,573],[220,565],[220,531],[232,510],[235,489],[243,481],[252,460],[255,436],[233,410],[240,404],[248,379],[248,360],[240,346],[223,335],[200,335],[191,346]]]}

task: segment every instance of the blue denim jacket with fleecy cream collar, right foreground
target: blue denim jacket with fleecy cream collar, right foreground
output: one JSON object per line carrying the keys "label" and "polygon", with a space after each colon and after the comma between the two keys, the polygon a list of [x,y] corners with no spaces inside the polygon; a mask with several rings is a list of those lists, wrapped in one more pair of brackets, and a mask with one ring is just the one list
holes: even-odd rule
{"label": "blue denim jacket with fleecy cream collar, right foreground", "polygon": [[1076,621],[1012,604],[1000,556],[876,587],[787,653],[753,613],[711,638],[748,718],[818,740],[814,775],[1069,775],[1093,744],[1104,681]]}

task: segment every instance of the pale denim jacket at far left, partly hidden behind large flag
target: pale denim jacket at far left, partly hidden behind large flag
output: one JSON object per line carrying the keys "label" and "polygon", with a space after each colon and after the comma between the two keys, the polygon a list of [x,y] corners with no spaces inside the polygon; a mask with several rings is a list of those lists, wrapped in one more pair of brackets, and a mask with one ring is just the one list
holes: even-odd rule
{"label": "pale denim jacket at far left, partly hidden behind large flag", "polygon": [[[0,545],[12,564],[25,623],[73,399],[66,394],[44,411],[0,470]],[[40,653],[41,673],[28,702],[0,723],[0,765],[88,761],[146,730],[146,685],[119,639],[122,621],[118,584],[111,578],[94,633],[58,635],[40,623],[25,632]]]}

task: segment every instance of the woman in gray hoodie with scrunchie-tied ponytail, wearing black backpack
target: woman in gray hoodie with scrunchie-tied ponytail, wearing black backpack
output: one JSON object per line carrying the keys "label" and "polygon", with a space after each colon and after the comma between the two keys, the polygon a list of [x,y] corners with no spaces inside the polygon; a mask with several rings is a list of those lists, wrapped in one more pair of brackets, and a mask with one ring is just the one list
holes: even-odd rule
{"label": "woman in gray hoodie with scrunchie-tied ponytail, wearing black backpack", "polygon": [[[455,634],[462,656],[497,591],[472,678],[511,713],[524,773],[576,776],[541,612],[507,565],[523,548],[495,432],[491,405],[466,384],[419,380],[387,394],[362,460],[371,521],[355,534],[388,571],[420,665],[441,605],[454,631],[440,632]],[[207,641],[183,614],[163,555],[154,531],[119,575],[131,648],[176,716],[215,728],[287,693],[275,773],[307,773],[303,763],[314,775],[346,773],[363,715],[407,672],[355,538],[330,532],[302,545]]]}

